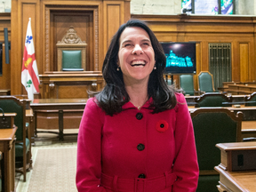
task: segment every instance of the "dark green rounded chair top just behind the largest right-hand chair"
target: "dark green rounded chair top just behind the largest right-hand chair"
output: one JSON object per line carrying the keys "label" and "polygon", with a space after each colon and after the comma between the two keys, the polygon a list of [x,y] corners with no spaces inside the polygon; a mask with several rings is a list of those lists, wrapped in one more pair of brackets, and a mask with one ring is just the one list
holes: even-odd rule
{"label": "dark green rounded chair top just behind the largest right-hand chair", "polygon": [[195,98],[195,107],[231,107],[232,104],[223,104],[223,102],[232,102],[232,99],[232,96],[226,96],[220,92],[206,92],[199,98]]}

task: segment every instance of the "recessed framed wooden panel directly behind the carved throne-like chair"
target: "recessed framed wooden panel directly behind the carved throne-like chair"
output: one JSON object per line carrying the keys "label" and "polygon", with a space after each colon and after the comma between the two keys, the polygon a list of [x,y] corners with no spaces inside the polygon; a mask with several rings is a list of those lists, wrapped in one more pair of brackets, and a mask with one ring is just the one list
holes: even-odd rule
{"label": "recessed framed wooden panel directly behind the carved throne-like chair", "polygon": [[61,40],[70,25],[76,29],[77,35],[87,44],[86,70],[99,70],[98,14],[97,6],[48,5],[45,7],[44,71],[57,70],[56,43]]}

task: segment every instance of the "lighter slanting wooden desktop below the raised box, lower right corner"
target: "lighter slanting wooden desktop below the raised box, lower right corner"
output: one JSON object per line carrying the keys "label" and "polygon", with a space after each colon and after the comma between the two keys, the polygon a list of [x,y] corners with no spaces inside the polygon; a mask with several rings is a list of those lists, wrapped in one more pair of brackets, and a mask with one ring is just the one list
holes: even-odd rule
{"label": "lighter slanting wooden desktop below the raised box, lower right corner", "polygon": [[256,191],[256,171],[228,172],[214,167],[220,173],[220,186],[217,188],[220,192],[254,192]]}

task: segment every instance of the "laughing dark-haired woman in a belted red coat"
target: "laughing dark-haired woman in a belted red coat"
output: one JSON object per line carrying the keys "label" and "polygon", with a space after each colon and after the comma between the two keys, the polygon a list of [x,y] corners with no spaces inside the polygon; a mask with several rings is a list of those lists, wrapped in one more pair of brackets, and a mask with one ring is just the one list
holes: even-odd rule
{"label": "laughing dark-haired woman in a belted red coat", "polygon": [[77,141],[78,191],[196,191],[198,164],[184,96],[164,83],[161,44],[140,20],[113,37],[107,85],[86,103]]}

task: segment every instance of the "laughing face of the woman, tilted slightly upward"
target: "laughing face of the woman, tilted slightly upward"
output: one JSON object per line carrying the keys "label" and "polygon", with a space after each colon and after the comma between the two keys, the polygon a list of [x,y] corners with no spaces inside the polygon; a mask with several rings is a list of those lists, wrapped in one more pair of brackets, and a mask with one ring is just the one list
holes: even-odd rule
{"label": "laughing face of the woman, tilted slightly upward", "polygon": [[125,28],[119,39],[117,65],[124,76],[124,84],[147,81],[152,72],[155,52],[148,33],[138,27]]}

